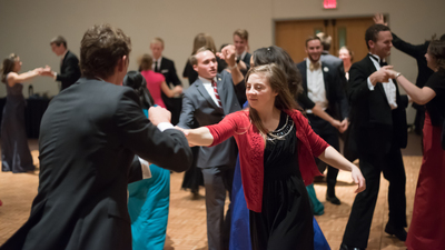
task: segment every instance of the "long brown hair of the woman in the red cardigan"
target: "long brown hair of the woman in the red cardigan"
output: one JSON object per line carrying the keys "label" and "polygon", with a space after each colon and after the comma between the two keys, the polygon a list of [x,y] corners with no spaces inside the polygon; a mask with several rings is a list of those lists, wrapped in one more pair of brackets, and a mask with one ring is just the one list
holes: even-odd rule
{"label": "long brown hair of the woman in the red cardigan", "polygon": [[[251,74],[260,74],[267,78],[270,88],[278,93],[275,97],[275,107],[277,109],[293,110],[297,108],[297,102],[290,93],[287,84],[286,73],[278,64],[269,63],[250,68],[246,74],[246,82],[249,80]],[[251,107],[249,107],[249,118],[251,123],[260,131],[263,137],[266,137],[269,131],[264,127],[258,112]]]}

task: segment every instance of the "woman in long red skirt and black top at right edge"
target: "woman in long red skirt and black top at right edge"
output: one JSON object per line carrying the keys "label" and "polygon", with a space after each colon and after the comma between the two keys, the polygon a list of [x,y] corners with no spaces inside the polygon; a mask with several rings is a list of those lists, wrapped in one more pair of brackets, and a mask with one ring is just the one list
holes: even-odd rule
{"label": "woman in long red skirt and black top at right edge", "polygon": [[441,40],[433,37],[425,58],[434,73],[422,89],[402,73],[388,70],[412,100],[426,108],[423,160],[406,239],[409,250],[445,246],[445,36]]}

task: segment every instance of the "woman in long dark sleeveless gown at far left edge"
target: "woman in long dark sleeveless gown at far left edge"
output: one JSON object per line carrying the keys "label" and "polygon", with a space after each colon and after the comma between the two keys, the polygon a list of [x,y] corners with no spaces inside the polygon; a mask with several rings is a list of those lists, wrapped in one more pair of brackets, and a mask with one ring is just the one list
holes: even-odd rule
{"label": "woman in long dark sleeveless gown at far left edge", "polygon": [[40,76],[43,70],[19,73],[22,62],[20,57],[11,53],[1,64],[1,82],[7,87],[7,103],[1,120],[1,170],[13,173],[33,171],[36,167],[28,147],[24,128],[26,101],[22,93],[23,81]]}

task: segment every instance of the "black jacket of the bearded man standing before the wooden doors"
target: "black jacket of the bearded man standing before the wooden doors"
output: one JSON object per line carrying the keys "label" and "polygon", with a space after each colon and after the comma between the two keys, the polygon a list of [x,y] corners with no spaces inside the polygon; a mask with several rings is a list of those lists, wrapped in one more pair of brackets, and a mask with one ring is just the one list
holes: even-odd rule
{"label": "black jacket of the bearded man standing before the wooden doors", "polygon": [[[307,66],[306,60],[297,64],[299,72],[301,73],[303,82],[303,94],[307,97]],[[322,61],[322,71],[325,81],[326,98],[329,102],[327,112],[338,120],[344,120],[348,117],[349,106],[340,84],[340,79],[337,73],[337,69],[332,64],[327,64]],[[309,98],[303,98],[299,101],[303,109],[313,109],[315,103]]]}

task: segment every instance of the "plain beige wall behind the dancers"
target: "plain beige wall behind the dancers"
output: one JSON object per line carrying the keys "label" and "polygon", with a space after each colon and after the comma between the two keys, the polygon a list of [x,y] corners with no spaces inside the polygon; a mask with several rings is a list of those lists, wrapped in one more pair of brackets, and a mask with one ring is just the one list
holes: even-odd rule
{"label": "plain beige wall behind the dancers", "polygon": [[[92,24],[108,22],[131,37],[130,69],[137,68],[138,56],[149,52],[149,41],[161,37],[166,42],[164,54],[176,62],[181,78],[198,32],[212,34],[219,47],[231,42],[235,29],[245,28],[249,31],[250,50],[255,50],[273,44],[274,20],[384,12],[395,33],[412,43],[422,43],[435,32],[445,33],[444,9],[444,0],[338,0],[336,10],[324,10],[323,0],[0,0],[0,56],[18,53],[23,61],[22,71],[44,64],[59,71],[59,59],[51,52],[49,40],[62,34],[68,48],[79,54],[83,32]],[[415,80],[415,60],[394,50],[390,62]],[[32,83],[34,92],[59,92],[50,78],[38,78]],[[6,87],[0,86],[0,97],[4,96]]]}

